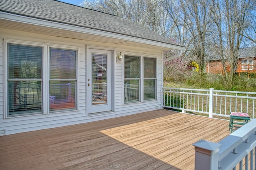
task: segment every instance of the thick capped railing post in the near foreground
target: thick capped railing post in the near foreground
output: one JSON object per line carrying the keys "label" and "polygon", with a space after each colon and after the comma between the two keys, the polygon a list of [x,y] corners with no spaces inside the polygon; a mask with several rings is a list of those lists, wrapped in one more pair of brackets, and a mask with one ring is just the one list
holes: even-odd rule
{"label": "thick capped railing post in the near foreground", "polygon": [[219,143],[200,140],[195,147],[195,170],[218,170]]}

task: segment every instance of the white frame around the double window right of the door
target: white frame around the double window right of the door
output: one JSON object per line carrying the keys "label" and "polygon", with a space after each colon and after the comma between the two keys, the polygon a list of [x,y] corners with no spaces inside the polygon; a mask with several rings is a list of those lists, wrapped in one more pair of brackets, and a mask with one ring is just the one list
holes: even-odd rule
{"label": "white frame around the double window right of the door", "polygon": [[[122,99],[122,104],[123,105],[127,105],[127,104],[134,104],[134,103],[144,103],[144,102],[151,102],[151,101],[156,101],[157,100],[157,86],[158,86],[158,57],[156,57],[155,55],[148,55],[148,54],[139,54],[139,53],[132,53],[132,52],[123,52],[122,55],[125,56],[129,55],[129,56],[139,56],[140,57],[140,87],[139,87],[139,93],[140,93],[140,97],[139,97],[139,101],[136,102],[126,102],[125,103],[125,99],[123,97]],[[144,57],[146,58],[154,58],[156,59],[156,87],[155,87],[155,99],[150,99],[150,100],[144,100]],[[122,62],[122,96],[124,96],[124,81],[128,80],[124,78],[124,59]]]}

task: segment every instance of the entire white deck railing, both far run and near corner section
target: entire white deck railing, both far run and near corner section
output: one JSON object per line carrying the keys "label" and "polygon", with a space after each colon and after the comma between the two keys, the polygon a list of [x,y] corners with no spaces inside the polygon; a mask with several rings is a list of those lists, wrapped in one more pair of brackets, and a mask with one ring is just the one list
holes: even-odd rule
{"label": "entire white deck railing, both far run and near corner section", "polygon": [[200,140],[195,147],[195,170],[256,169],[256,93],[184,88],[162,88],[163,107],[209,117],[246,112],[251,121],[218,143]]}

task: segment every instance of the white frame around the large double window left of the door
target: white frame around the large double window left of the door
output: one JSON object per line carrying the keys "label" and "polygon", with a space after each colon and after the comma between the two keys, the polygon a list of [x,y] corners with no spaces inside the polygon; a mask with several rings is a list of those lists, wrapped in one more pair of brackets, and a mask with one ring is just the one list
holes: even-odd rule
{"label": "white frame around the large double window left of the door", "polygon": [[[16,44],[16,45],[27,45],[27,46],[34,46],[34,47],[42,47],[43,54],[42,54],[42,113],[29,113],[29,114],[22,114],[22,115],[9,115],[8,113],[8,44]],[[60,112],[67,112],[67,111],[78,111],[79,104],[78,104],[78,70],[79,70],[79,47],[75,46],[68,46],[68,45],[56,45],[50,43],[41,43],[41,42],[34,42],[34,41],[23,41],[23,40],[16,40],[16,39],[4,39],[4,65],[3,68],[6,70],[4,72],[4,119],[7,118],[15,118],[15,117],[24,117],[24,116],[34,116],[34,115],[47,115],[51,113],[60,113]],[[50,48],[56,49],[64,49],[64,50],[74,50],[77,51],[76,53],[76,91],[75,91],[75,103],[76,109],[63,109],[59,111],[50,112],[49,111],[49,63],[50,63]]]}

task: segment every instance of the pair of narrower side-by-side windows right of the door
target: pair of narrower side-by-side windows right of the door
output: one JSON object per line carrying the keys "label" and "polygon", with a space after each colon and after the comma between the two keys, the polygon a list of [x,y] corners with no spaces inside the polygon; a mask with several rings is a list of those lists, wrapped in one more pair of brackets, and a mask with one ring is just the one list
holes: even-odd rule
{"label": "pair of narrower side-by-side windows right of the door", "polygon": [[156,81],[156,58],[124,56],[124,104],[156,100]]}

